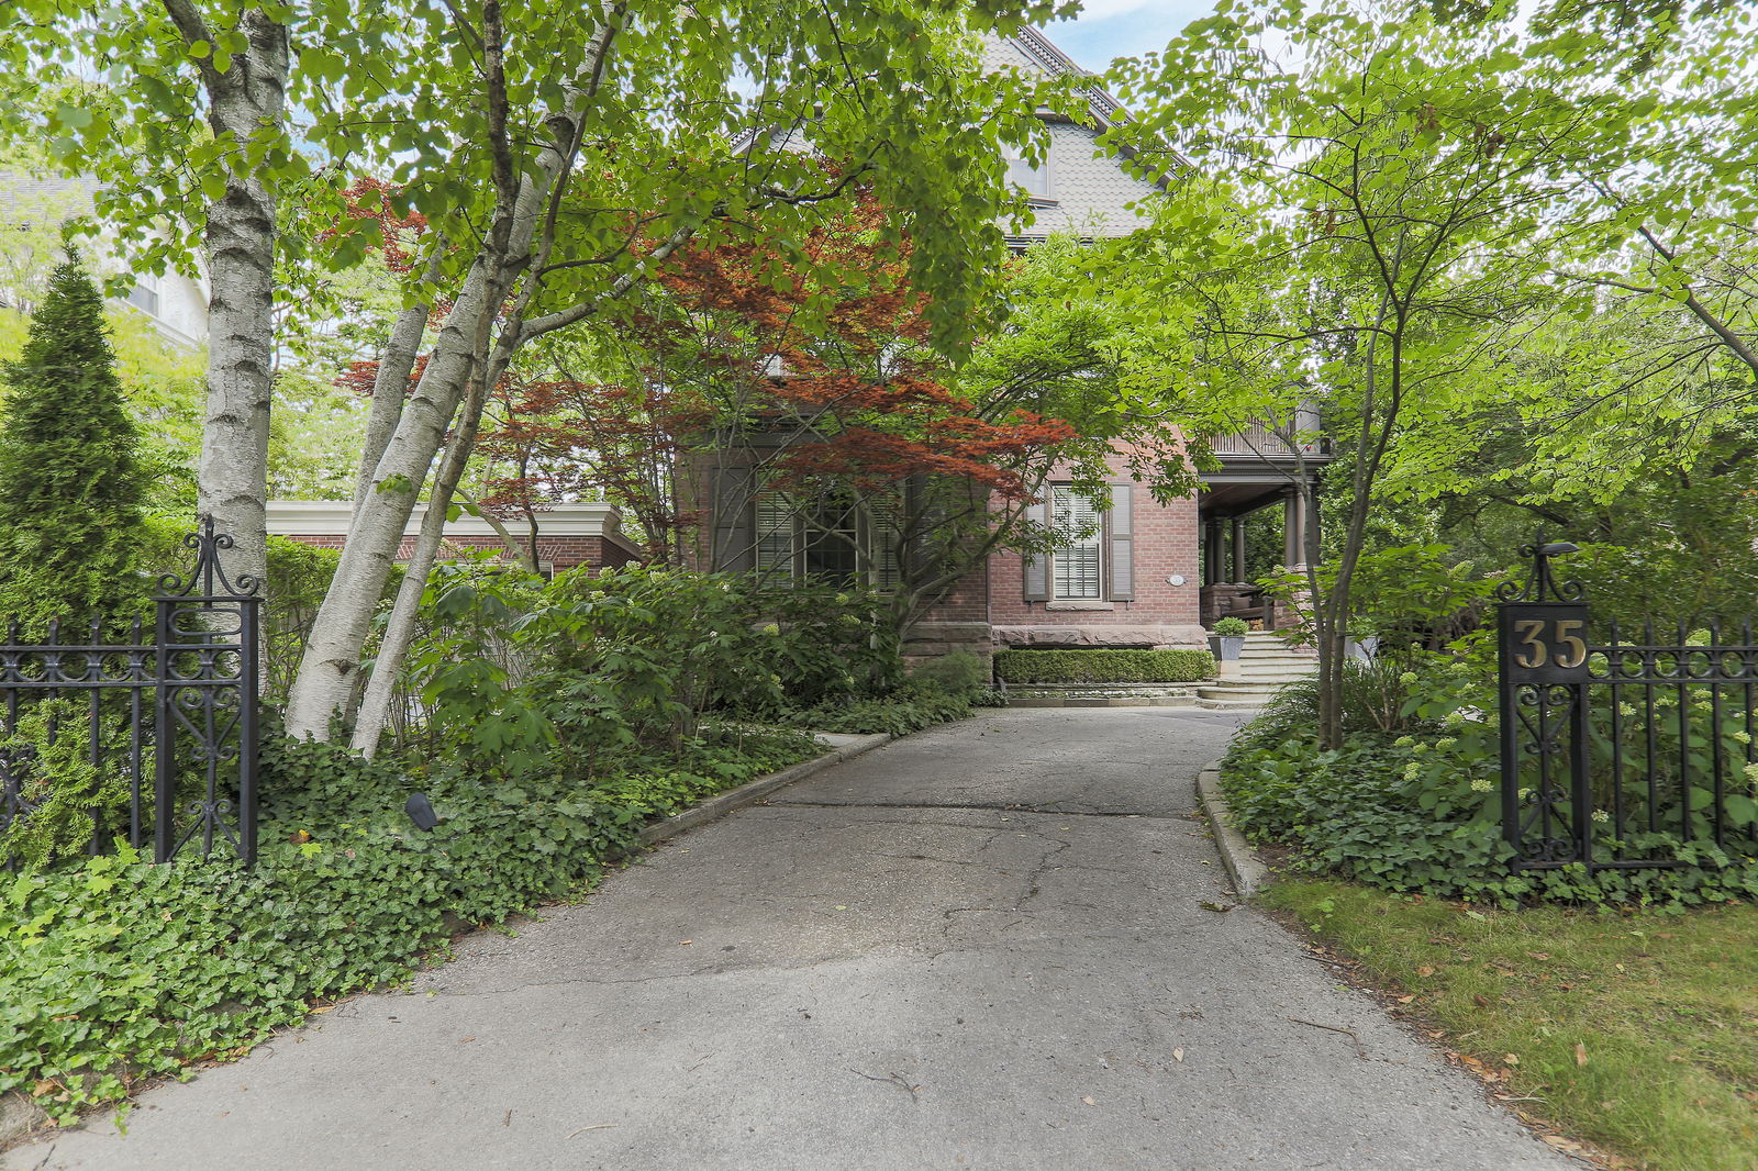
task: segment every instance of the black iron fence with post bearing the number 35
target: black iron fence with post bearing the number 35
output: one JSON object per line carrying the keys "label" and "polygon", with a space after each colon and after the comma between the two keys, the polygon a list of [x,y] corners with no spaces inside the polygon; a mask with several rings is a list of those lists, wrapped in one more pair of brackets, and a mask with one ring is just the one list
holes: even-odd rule
{"label": "black iron fence with post bearing the number 35", "polygon": [[1501,589],[1501,823],[1515,865],[1726,865],[1758,855],[1758,644],[1682,626],[1596,638],[1542,540]]}

